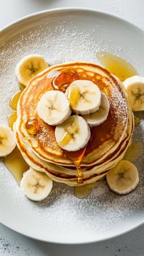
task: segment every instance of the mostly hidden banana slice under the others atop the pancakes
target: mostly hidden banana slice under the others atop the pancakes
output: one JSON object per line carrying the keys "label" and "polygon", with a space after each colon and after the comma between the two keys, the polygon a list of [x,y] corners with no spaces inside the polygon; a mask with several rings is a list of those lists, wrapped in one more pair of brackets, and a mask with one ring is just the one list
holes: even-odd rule
{"label": "mostly hidden banana slice under the others atop the pancakes", "polygon": [[87,121],[88,125],[98,126],[103,123],[107,119],[107,115],[109,114],[109,100],[106,95],[101,93],[101,106],[99,109],[92,114],[83,115],[82,117]]}

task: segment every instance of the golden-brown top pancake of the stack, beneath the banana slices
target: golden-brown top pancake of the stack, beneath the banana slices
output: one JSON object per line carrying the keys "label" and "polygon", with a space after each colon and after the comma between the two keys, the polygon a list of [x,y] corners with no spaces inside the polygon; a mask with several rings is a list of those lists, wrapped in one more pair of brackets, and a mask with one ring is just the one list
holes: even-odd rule
{"label": "golden-brown top pancake of the stack, beneath the banana slices", "polygon": [[[107,70],[98,65],[81,62],[55,65],[35,76],[22,93],[18,103],[16,130],[21,139],[29,142],[39,158],[60,165],[72,165],[56,142],[55,126],[48,125],[37,114],[37,104],[41,96],[48,90],[53,90],[52,71],[61,71],[65,68],[73,70],[79,79],[93,81],[109,99],[110,110],[107,120],[91,129],[91,139],[82,159],[82,165],[90,166],[114,152],[128,126],[128,103],[124,89]],[[30,136],[25,128],[25,123],[31,117],[35,117],[39,122],[38,133],[35,136]]]}

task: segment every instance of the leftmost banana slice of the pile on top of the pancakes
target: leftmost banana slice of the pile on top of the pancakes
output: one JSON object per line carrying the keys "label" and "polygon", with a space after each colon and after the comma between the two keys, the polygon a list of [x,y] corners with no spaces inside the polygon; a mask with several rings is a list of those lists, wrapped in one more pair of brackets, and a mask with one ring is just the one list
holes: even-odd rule
{"label": "leftmost banana slice of the pile on top of the pancakes", "polygon": [[70,116],[70,103],[65,93],[49,90],[40,98],[37,112],[39,117],[48,125],[59,125]]}

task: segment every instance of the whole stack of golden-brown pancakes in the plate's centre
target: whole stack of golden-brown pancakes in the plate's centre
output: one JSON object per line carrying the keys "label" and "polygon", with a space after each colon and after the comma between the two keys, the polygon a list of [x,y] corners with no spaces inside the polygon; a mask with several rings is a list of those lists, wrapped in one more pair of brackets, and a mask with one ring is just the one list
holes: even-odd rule
{"label": "whole stack of golden-brown pancakes in the plate's centre", "polygon": [[[29,166],[45,172],[54,181],[78,186],[76,167],[57,144],[56,126],[45,123],[37,113],[40,98],[49,90],[54,90],[54,76],[63,73],[63,70],[73,71],[78,79],[92,81],[106,94],[110,104],[106,121],[91,128],[91,137],[81,162],[85,185],[103,178],[123,158],[131,143],[134,118],[123,85],[104,68],[82,62],[49,67],[29,82],[18,103],[16,144]],[[31,119],[38,123],[35,135],[29,134],[26,129],[27,120]]]}

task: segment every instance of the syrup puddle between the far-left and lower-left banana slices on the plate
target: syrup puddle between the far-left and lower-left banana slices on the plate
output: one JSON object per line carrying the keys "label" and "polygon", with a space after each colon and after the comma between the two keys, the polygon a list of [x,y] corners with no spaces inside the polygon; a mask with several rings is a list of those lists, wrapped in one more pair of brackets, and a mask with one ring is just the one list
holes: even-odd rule
{"label": "syrup puddle between the far-left and lower-left banana slices on the plate", "polygon": [[10,170],[18,185],[20,185],[23,174],[29,169],[29,166],[24,161],[18,147],[15,147],[13,152],[4,158],[4,165]]}

